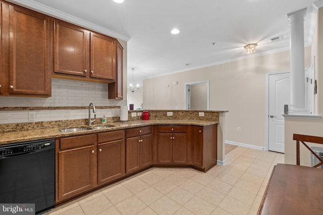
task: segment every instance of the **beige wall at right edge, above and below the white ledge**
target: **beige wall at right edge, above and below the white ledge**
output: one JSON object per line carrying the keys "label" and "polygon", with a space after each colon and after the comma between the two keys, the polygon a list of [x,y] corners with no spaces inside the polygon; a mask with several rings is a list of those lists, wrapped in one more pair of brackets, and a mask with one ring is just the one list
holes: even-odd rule
{"label": "beige wall at right edge, above and below the white ledge", "polygon": [[[316,113],[323,114],[323,87],[319,79],[323,80],[323,61],[319,60],[323,56],[323,8],[318,11],[318,18],[313,36],[311,59],[315,58],[315,76],[317,79],[317,94],[315,95]],[[285,119],[285,163],[296,164],[296,141],[293,134],[305,134],[313,136],[323,136],[323,119]],[[308,144],[309,146],[323,147],[318,144]],[[309,166],[310,152],[302,145],[300,147],[300,164]]]}

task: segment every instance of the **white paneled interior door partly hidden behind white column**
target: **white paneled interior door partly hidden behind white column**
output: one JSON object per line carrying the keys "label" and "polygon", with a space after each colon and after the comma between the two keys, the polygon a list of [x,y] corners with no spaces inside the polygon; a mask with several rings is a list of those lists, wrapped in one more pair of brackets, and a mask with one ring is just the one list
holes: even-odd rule
{"label": "white paneled interior door partly hidden behind white column", "polygon": [[290,74],[269,76],[268,150],[284,153],[284,105],[290,103]]}

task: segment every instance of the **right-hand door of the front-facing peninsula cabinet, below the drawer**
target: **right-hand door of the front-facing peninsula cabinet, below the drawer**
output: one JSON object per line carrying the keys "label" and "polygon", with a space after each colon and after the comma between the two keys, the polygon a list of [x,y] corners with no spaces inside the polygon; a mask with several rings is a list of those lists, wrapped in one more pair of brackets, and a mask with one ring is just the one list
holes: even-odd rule
{"label": "right-hand door of the front-facing peninsula cabinet, below the drawer", "polygon": [[173,164],[186,164],[186,133],[173,134]]}

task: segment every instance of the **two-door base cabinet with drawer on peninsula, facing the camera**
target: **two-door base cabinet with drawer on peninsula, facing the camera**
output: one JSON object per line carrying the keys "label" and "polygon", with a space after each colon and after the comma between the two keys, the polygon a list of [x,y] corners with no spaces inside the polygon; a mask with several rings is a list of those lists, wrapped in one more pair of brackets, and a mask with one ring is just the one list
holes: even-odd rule
{"label": "two-door base cabinet with drawer on peninsula, facing the camera", "polygon": [[159,125],[157,129],[158,164],[186,164],[187,126]]}

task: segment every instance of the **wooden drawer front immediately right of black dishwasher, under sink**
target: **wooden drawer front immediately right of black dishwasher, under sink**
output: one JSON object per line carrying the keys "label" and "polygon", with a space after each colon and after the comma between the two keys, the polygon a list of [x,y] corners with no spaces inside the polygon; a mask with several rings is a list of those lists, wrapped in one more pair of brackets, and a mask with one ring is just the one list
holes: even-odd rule
{"label": "wooden drawer front immediately right of black dishwasher, under sink", "polygon": [[66,150],[82,146],[93,145],[96,142],[96,134],[72,136],[60,139],[60,149]]}

